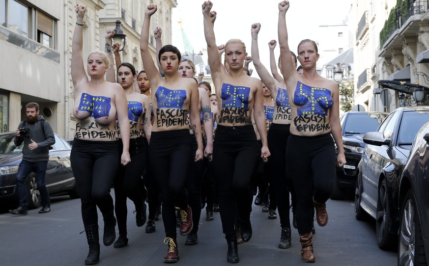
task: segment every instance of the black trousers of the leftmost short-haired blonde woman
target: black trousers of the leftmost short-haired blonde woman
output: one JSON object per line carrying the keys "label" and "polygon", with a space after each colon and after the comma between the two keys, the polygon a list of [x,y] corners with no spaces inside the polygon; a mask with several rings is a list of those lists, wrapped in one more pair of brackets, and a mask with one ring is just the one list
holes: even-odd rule
{"label": "black trousers of the leftmost short-haired blonde woman", "polygon": [[117,141],[73,140],[70,162],[81,196],[82,220],[85,226],[98,224],[96,206],[103,216],[113,214],[110,187],[118,161]]}

